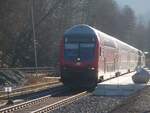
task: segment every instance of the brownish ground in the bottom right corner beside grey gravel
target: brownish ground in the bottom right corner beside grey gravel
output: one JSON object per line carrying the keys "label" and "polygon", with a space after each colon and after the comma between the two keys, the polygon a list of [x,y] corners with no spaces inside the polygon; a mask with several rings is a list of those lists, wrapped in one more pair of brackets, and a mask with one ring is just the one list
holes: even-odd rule
{"label": "brownish ground in the bottom right corner beside grey gravel", "polygon": [[111,113],[150,113],[150,86],[139,94],[128,99],[125,104],[117,107]]}

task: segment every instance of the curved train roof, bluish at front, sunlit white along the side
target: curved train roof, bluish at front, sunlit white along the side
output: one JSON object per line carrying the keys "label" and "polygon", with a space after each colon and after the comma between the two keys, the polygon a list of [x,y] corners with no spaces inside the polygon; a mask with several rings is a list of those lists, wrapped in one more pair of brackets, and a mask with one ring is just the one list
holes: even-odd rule
{"label": "curved train roof, bluish at front, sunlit white along the side", "polygon": [[140,50],[136,49],[135,47],[133,47],[125,42],[122,42],[119,39],[116,39],[113,36],[110,36],[102,31],[99,31],[89,25],[86,25],[86,24],[79,24],[79,25],[75,25],[75,26],[69,28],[64,33],[64,36],[69,36],[72,34],[78,34],[78,35],[80,34],[80,35],[87,35],[87,36],[90,35],[90,36],[94,36],[95,38],[99,38],[99,40],[102,40],[101,37],[105,37],[105,38],[111,40],[112,42],[114,42],[115,44],[117,43],[118,46],[121,46],[126,49],[140,51]]}

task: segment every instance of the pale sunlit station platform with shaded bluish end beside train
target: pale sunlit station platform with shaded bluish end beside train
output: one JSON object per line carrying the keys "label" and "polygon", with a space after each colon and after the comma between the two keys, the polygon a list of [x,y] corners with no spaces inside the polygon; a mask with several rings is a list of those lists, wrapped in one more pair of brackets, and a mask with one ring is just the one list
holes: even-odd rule
{"label": "pale sunlit station platform with shaded bluish end beside train", "polygon": [[95,90],[94,95],[97,96],[129,96],[136,91],[144,88],[148,84],[135,84],[132,76],[135,72],[99,83]]}

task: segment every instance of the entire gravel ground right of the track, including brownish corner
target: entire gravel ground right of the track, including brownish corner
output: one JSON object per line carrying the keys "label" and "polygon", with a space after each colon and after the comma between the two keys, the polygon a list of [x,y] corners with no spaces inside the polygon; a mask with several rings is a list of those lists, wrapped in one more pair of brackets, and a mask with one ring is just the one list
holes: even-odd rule
{"label": "entire gravel ground right of the track, including brownish corner", "polygon": [[150,86],[129,97],[90,95],[50,113],[150,113]]}

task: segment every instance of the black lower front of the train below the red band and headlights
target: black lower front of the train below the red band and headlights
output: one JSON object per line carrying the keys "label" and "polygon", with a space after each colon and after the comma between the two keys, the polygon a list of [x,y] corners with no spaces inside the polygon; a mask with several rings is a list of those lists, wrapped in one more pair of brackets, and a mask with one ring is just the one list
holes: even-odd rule
{"label": "black lower front of the train below the red band and headlights", "polygon": [[61,81],[71,88],[95,88],[98,82],[95,70],[73,70],[63,69],[61,71]]}

